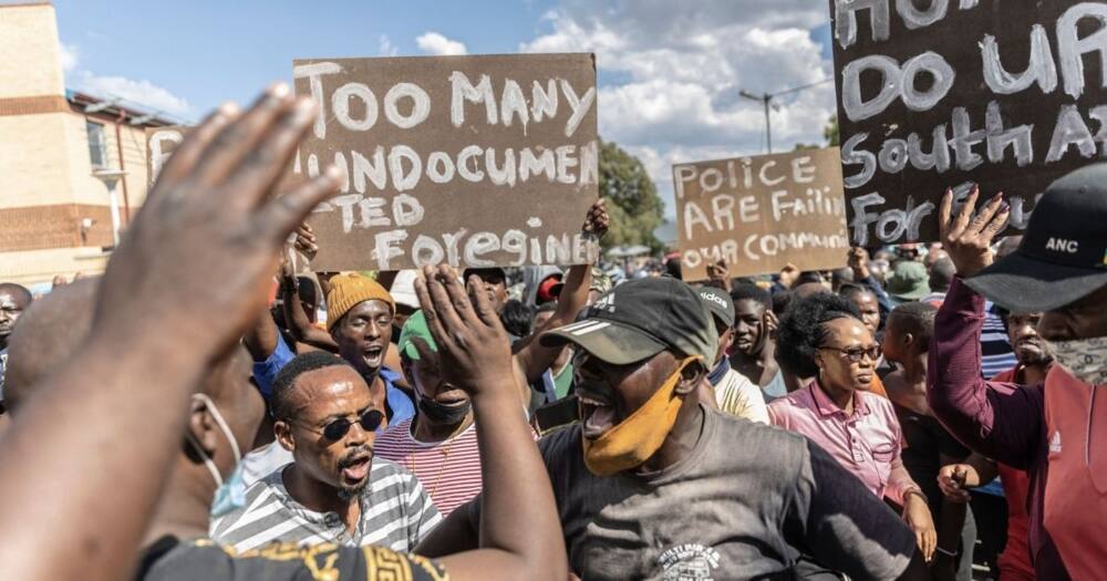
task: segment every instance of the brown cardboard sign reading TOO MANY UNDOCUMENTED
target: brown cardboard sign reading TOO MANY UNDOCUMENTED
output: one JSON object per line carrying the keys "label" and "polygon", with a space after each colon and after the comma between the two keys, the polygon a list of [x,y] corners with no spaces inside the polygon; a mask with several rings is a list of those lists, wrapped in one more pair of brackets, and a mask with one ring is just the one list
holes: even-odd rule
{"label": "brown cardboard sign reading TOO MANY UNDOCUMENTED", "polygon": [[335,164],[317,270],[583,263],[598,197],[591,54],[297,60],[319,116],[297,170]]}

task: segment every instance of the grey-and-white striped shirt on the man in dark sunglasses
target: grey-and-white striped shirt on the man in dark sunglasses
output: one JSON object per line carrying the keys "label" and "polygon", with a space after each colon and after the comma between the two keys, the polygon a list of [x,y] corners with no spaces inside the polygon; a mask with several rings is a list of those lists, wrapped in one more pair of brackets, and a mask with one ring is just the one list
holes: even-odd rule
{"label": "grey-and-white striped shirt on the man in dark sunglasses", "polygon": [[284,488],[283,474],[277,470],[250,486],[244,508],[211,522],[211,538],[237,551],[270,542],[329,542],[408,552],[442,520],[418,480],[384,458],[373,458],[353,535],[338,513],[315,512],[297,502]]}

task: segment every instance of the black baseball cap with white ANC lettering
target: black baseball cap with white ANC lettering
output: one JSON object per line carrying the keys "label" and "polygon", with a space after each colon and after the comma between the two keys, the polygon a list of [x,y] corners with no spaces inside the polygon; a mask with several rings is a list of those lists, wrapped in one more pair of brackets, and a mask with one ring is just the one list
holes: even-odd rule
{"label": "black baseball cap with white ANC lettering", "polygon": [[1053,311],[1107,286],[1107,163],[1051,184],[1018,249],[964,282],[1012,312]]}

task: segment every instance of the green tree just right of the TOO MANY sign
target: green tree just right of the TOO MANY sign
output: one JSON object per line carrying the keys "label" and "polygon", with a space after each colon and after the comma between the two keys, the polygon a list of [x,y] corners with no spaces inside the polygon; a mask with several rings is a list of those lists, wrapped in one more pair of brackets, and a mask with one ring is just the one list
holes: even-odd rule
{"label": "green tree just right of the TOO MANY sign", "polygon": [[608,200],[611,228],[604,248],[643,245],[660,250],[653,230],[664,208],[642,162],[612,142],[600,142],[600,196]]}

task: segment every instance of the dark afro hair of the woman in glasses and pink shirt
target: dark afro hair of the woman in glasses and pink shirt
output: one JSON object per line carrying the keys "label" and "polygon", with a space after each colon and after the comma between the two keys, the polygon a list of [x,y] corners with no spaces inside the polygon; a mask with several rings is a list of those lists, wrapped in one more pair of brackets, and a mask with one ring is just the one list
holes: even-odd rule
{"label": "dark afro hair of the woman in glasses and pink shirt", "polygon": [[827,338],[825,324],[846,318],[860,322],[861,313],[853,303],[837,294],[823,292],[793,300],[777,329],[777,363],[797,377],[814,377],[819,372],[815,352]]}

